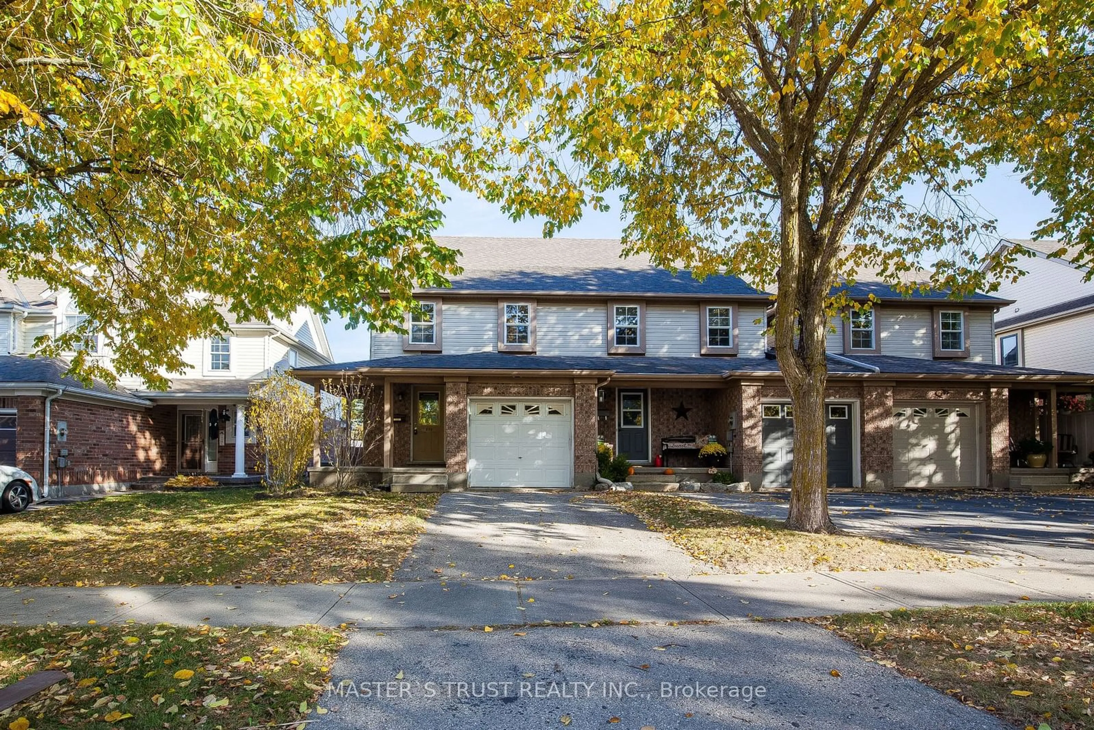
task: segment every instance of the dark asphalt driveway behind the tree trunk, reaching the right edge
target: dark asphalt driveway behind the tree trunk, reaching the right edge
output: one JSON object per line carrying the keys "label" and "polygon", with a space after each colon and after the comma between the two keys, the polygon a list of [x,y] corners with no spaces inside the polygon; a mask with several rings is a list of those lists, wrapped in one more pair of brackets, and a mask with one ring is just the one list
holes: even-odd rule
{"label": "dark asphalt driveway behind the tree trunk, reaching the right edge", "polygon": [[[784,519],[789,495],[688,495]],[[851,532],[1015,565],[1094,565],[1094,497],[1049,495],[833,494],[833,520]]]}

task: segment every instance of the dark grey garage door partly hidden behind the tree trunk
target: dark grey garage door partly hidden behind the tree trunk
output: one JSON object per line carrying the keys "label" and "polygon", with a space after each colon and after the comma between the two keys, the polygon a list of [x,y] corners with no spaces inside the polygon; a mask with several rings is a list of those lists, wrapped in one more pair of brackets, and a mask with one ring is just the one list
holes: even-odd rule
{"label": "dark grey garage door partly hidden behind the tree trunk", "polygon": [[[794,465],[793,406],[768,403],[764,409],[763,486],[789,487]],[[828,437],[828,486],[853,485],[854,455],[851,438],[851,406],[825,405],[825,430]]]}

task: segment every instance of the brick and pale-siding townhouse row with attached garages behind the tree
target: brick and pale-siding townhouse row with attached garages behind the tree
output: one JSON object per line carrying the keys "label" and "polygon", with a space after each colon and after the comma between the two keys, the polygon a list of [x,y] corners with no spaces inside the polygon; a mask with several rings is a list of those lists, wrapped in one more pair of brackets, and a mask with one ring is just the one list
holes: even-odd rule
{"label": "brick and pale-siding townhouse row with attached garages behind the tree", "polygon": [[[638,465],[694,466],[673,440],[714,436],[735,474],[788,484],[793,409],[767,348],[769,294],[620,258],[618,241],[440,241],[462,252],[464,273],[417,292],[406,334],[373,333],[369,360],[294,370],[317,387],[359,376],[382,390],[381,478],[584,487],[597,437]],[[993,363],[992,316],[1006,300],[904,298],[868,277],[850,291],[871,293],[873,311],[836,318],[829,337],[833,486],[1005,487],[1023,404],[1094,382]]]}

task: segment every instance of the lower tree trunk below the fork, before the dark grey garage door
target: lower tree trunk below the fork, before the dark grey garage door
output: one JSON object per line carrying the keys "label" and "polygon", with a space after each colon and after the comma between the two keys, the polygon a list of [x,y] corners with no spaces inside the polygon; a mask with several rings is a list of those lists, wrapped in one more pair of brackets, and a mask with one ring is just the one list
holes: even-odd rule
{"label": "lower tree trunk below the fork, before the dark grey garage door", "polygon": [[835,532],[828,515],[828,449],[825,433],[826,372],[807,372],[790,385],[794,404],[794,471],[787,526],[803,532]]}

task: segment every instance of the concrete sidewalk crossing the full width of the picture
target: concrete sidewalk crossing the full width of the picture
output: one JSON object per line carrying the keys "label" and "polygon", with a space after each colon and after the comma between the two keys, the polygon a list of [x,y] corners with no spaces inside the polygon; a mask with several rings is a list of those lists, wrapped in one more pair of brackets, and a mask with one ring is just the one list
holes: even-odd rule
{"label": "concrete sidewalk crossing the full width of the picture", "polygon": [[356,623],[377,628],[486,624],[725,621],[900,606],[1094,600],[1081,568],[707,575],[387,583],[0,589],[8,624],[136,621],[179,625]]}

